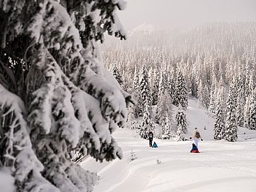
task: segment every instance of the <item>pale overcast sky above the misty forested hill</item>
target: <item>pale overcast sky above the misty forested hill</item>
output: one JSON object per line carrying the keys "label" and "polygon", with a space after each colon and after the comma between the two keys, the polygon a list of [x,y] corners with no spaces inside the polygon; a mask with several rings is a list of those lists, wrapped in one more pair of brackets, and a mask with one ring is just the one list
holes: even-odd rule
{"label": "pale overcast sky above the misty forested hill", "polygon": [[256,21],[256,0],[126,0],[126,30],[141,23],[191,27],[212,21]]}

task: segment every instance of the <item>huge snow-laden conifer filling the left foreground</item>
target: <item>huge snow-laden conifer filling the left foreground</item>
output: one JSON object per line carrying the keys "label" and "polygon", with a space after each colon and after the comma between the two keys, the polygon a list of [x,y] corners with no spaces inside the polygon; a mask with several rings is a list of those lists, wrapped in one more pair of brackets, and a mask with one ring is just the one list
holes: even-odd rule
{"label": "huge snow-laden conifer filling the left foreground", "polygon": [[0,179],[19,192],[86,192],[96,174],[71,161],[122,158],[112,137],[134,103],[97,42],[125,38],[125,2],[0,1]]}

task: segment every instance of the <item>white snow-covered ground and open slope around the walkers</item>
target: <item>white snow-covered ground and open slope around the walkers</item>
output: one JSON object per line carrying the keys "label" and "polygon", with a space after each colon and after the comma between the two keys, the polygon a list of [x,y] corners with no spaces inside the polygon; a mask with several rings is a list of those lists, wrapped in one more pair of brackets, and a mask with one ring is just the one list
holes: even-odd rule
{"label": "white snow-covered ground and open slope around the walkers", "polygon": [[[158,148],[153,149],[148,140],[139,138],[138,131],[117,130],[113,137],[124,152],[122,160],[100,163],[89,157],[81,162],[84,169],[98,173],[94,191],[255,192],[256,131],[239,128],[237,142],[215,141],[214,120],[206,109],[197,108],[197,100],[189,99],[186,115],[189,133],[185,137],[197,127],[204,139],[199,143],[200,154],[190,153],[189,140],[154,139]],[[134,161],[131,150],[137,157]]]}

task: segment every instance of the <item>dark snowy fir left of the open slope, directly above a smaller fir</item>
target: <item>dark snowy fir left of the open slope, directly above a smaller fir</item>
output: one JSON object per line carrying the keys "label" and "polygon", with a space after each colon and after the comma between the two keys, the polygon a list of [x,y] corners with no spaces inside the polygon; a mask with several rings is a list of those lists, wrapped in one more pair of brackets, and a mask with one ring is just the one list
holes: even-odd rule
{"label": "dark snowy fir left of the open slope, directly above a smaller fir", "polygon": [[181,72],[178,73],[177,82],[175,86],[175,98],[174,104],[176,106],[182,106],[183,110],[187,109],[188,106],[188,96],[187,96],[187,87],[185,84],[185,79]]}

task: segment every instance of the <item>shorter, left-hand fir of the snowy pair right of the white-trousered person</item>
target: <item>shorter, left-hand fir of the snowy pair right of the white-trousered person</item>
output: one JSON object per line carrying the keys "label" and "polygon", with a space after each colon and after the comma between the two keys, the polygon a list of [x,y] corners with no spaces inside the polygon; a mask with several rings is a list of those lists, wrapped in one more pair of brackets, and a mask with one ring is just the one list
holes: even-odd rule
{"label": "shorter, left-hand fir of the snowy pair right of the white-trousered person", "polygon": [[221,98],[218,98],[218,103],[216,106],[216,112],[214,117],[214,139],[220,140],[225,138],[225,123]]}

